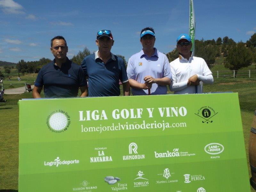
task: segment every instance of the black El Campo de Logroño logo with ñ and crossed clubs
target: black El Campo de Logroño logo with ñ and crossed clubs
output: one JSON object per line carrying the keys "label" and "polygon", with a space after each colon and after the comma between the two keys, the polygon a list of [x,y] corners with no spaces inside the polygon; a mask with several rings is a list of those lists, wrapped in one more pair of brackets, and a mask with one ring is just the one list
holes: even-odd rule
{"label": "black El Campo de Logro\u00f1o logo with \u00f1 and crossed clubs", "polygon": [[210,106],[203,106],[197,110],[195,115],[201,117],[202,123],[212,123],[215,115],[217,115],[218,112],[216,112],[212,107]]}

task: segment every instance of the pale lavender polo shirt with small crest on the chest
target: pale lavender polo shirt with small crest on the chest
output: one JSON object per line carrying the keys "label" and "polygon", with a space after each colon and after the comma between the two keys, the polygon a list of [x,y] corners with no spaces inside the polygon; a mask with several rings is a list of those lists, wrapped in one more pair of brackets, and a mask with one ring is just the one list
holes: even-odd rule
{"label": "pale lavender polo shirt with small crest on the chest", "polygon": [[[145,76],[152,76],[153,78],[168,77],[172,79],[171,68],[169,60],[164,53],[159,52],[154,48],[153,55],[148,57],[143,50],[132,55],[128,61],[127,76],[129,79],[134,79],[139,83],[145,83]],[[162,95],[167,93],[167,86],[161,86],[156,83],[152,84],[150,89],[151,95]],[[148,90],[133,89],[133,95],[148,95]]]}

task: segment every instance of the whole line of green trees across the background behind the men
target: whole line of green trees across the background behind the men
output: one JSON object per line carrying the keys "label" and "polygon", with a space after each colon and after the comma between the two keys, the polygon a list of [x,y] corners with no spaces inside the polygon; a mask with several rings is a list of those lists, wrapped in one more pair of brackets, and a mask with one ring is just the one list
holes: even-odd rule
{"label": "whole line of green trees across the background behind the men", "polygon": [[[92,54],[87,47],[83,51],[79,51],[71,59],[74,63],[81,65],[84,57]],[[207,65],[211,68],[215,63],[216,58],[223,55],[225,58],[224,66],[230,70],[238,70],[240,68],[248,67],[253,62],[256,62],[256,33],[251,38],[243,43],[242,41],[236,43],[232,38],[225,36],[219,37],[216,40],[195,40],[195,56],[202,57]],[[127,61],[122,55],[117,55],[124,59],[124,64],[127,66]],[[169,61],[173,61],[179,57],[177,48],[166,54]],[[20,60],[16,65],[19,73],[38,73],[38,71],[45,64],[51,62],[50,59],[42,58],[38,61],[24,61]],[[1,76],[1,73],[0,73]]]}

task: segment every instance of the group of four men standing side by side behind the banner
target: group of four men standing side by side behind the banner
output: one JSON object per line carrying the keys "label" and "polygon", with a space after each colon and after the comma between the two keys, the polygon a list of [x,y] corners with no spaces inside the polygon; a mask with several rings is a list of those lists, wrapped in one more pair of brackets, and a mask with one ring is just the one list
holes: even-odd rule
{"label": "group of four men standing side by side behind the banner", "polygon": [[[166,94],[167,85],[174,94],[201,93],[203,84],[212,84],[212,72],[204,59],[192,56],[191,39],[187,34],[177,38],[179,58],[169,64],[164,53],[155,47],[153,28],[140,32],[142,50],[129,59],[127,73],[124,60],[111,53],[114,45],[110,30],[97,33],[98,51],[88,55],[81,67],[67,58],[68,46],[62,36],[51,40],[51,52],[55,59],[38,73],[33,97],[40,98],[44,86],[45,97],[76,97],[81,89],[81,97],[119,96],[119,79],[123,84],[124,95]],[[88,85],[85,77],[88,76]]]}

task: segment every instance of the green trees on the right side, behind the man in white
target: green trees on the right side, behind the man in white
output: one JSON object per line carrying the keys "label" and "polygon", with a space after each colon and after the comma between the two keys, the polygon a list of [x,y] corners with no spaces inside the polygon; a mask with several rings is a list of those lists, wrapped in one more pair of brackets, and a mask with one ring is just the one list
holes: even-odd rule
{"label": "green trees on the right side, behind the man in white", "polygon": [[[195,56],[202,57],[210,68],[221,54],[225,59],[224,66],[236,70],[236,73],[238,69],[250,66],[256,62],[256,33],[246,43],[236,43],[228,36],[216,40],[195,40]],[[179,57],[179,52],[175,48],[166,56],[171,62]]]}

